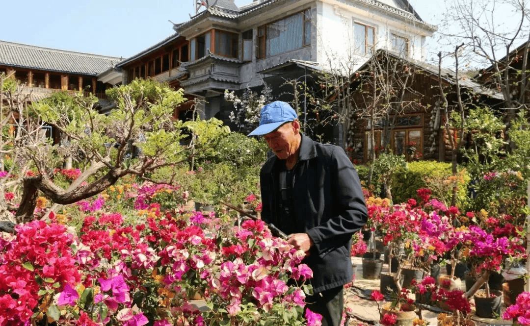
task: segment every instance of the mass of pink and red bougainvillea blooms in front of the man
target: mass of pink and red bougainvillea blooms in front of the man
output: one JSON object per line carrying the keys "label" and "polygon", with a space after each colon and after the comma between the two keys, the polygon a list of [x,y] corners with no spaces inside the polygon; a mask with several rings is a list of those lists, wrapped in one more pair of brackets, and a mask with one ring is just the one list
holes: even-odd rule
{"label": "mass of pink and red bougainvillea blooms in front of the man", "polygon": [[214,212],[161,209],[167,187],[136,189],[134,216],[105,211],[104,194],[77,205],[78,231],[52,213],[4,234],[0,325],[319,324],[304,314],[304,253],[263,222],[227,227]]}

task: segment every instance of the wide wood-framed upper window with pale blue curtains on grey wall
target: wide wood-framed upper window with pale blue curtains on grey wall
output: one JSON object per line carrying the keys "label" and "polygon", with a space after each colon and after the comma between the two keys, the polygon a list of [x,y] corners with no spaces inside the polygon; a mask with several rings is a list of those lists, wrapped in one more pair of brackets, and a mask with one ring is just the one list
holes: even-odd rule
{"label": "wide wood-framed upper window with pale blue curtains on grey wall", "polygon": [[311,44],[311,12],[306,10],[258,28],[258,58]]}

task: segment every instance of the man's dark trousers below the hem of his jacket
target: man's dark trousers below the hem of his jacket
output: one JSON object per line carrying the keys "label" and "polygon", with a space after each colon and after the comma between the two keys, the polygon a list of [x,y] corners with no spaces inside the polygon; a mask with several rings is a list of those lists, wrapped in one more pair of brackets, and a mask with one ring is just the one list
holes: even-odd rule
{"label": "man's dark trousers below the hem of his jacket", "polygon": [[344,309],[343,286],[305,298],[306,309],[322,315],[322,326],[339,326]]}

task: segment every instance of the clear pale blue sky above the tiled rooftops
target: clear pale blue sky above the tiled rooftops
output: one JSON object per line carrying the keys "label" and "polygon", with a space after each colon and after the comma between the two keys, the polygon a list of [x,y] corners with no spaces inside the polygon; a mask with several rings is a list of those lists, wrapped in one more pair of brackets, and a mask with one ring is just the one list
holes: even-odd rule
{"label": "clear pale blue sky above the tiled rooftops", "polygon": [[[190,19],[196,0],[2,1],[0,40],[128,58],[174,33]],[[436,24],[436,1],[409,0]],[[235,0],[238,6],[252,0]]]}

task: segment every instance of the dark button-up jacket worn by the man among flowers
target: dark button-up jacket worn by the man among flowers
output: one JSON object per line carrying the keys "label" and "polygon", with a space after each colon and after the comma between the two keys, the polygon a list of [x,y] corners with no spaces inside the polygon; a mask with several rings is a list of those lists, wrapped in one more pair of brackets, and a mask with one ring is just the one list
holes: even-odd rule
{"label": "dark button-up jacket worn by the man among flowers", "polygon": [[294,221],[289,221],[278,218],[282,165],[285,161],[274,156],[261,168],[261,218],[286,233],[307,233],[313,240],[303,262],[313,270],[315,293],[350,282],[351,236],[367,220],[357,171],[342,148],[302,134],[294,171]]}

